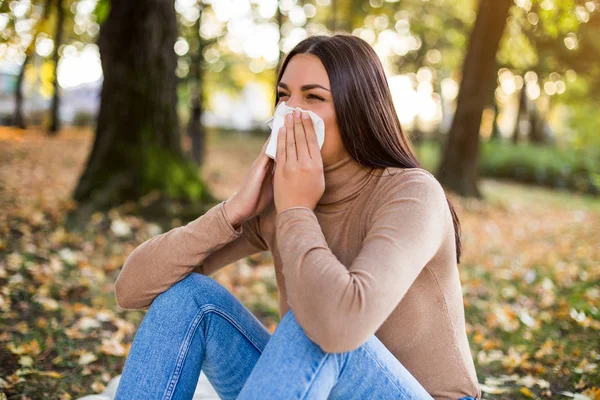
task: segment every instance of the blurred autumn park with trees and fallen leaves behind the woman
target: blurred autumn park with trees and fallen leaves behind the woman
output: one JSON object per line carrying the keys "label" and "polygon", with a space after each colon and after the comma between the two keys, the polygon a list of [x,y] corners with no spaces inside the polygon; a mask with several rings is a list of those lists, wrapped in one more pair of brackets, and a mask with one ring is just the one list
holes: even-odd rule
{"label": "blurred autumn park with trees and fallen leaves behind the woman", "polygon": [[[125,258],[237,191],[282,58],[336,32],[457,207],[485,397],[600,399],[598,0],[0,0],[0,399],[120,373]],[[276,327],[269,253],[215,279]]]}

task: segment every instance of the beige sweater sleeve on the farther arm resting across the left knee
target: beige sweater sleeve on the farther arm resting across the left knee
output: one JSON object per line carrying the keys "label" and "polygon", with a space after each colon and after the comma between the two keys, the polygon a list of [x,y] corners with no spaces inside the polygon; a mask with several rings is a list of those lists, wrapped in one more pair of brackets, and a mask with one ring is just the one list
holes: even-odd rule
{"label": "beige sweater sleeve on the farther arm resting across the left knee", "polygon": [[115,282],[117,304],[147,309],[154,298],[191,272],[210,275],[245,256],[267,249],[260,235],[259,216],[236,230],[225,201],[187,225],[156,235],[136,247]]}

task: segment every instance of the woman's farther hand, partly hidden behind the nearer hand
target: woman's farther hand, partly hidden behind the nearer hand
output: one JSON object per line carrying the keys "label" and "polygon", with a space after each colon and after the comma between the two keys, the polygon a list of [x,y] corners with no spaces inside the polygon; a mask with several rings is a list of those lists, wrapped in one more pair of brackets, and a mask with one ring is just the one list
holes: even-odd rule
{"label": "woman's farther hand, partly hidden behind the nearer hand", "polygon": [[252,163],[240,189],[225,202],[225,213],[234,227],[263,212],[273,202],[273,171],[275,161],[267,156],[265,142]]}

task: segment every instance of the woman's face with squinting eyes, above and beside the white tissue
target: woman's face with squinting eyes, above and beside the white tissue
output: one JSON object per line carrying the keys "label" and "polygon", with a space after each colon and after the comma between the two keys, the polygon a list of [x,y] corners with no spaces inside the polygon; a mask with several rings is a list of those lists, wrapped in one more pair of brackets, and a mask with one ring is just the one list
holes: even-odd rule
{"label": "woman's face with squinting eyes, above and beside the white tissue", "polygon": [[[329,77],[321,60],[313,54],[296,54],[288,62],[277,87],[279,103],[310,110],[325,122],[325,141],[321,148],[323,166],[348,155],[338,130]],[[277,103],[277,105],[279,105]]]}

